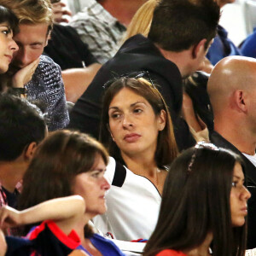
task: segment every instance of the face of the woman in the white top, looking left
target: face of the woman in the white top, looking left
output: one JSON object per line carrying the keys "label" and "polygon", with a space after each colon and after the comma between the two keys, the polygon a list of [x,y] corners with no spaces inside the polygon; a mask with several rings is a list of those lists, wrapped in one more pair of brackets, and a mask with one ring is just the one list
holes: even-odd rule
{"label": "face of the woman in the white top, looking left", "polygon": [[113,141],[122,154],[155,152],[159,131],[166,125],[164,110],[155,115],[143,96],[124,88],[113,97],[108,117]]}

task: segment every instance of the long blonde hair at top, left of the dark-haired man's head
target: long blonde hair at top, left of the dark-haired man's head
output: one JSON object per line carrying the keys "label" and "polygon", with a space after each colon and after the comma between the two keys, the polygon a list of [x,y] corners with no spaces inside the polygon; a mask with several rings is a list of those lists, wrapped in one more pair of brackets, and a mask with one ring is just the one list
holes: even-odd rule
{"label": "long blonde hair at top, left of the dark-haired man's head", "polygon": [[121,44],[125,43],[128,38],[131,38],[137,34],[142,34],[146,38],[148,37],[154,8],[159,2],[160,0],[148,0],[141,6],[140,9],[137,10],[136,14],[131,20],[130,25],[127,27],[127,31],[121,40]]}

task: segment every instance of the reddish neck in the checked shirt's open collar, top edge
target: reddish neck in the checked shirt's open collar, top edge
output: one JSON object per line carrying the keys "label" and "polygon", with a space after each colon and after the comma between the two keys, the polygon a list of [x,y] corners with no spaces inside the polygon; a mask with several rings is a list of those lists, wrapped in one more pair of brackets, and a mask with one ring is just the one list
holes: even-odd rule
{"label": "reddish neck in the checked shirt's open collar, top edge", "polygon": [[99,3],[124,26],[128,26],[133,15],[146,0],[102,0]]}

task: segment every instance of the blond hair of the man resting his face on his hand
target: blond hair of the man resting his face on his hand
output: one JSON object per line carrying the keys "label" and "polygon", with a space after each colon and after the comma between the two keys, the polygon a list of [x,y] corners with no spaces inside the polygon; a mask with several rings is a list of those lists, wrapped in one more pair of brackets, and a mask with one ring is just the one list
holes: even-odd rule
{"label": "blond hair of the man resting his face on his hand", "polygon": [[49,0],[0,0],[0,4],[11,9],[22,24],[46,23],[49,30],[52,29],[53,11]]}

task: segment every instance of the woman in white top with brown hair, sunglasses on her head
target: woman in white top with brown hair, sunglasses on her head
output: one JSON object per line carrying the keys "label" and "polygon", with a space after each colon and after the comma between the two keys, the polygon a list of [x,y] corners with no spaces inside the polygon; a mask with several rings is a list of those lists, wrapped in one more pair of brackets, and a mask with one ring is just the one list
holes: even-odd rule
{"label": "woman in white top with brown hair, sunglasses on her head", "polygon": [[[119,240],[148,239],[157,221],[166,166],[177,155],[172,120],[148,73],[105,84],[101,140],[110,162],[108,211],[94,218]],[[149,82],[150,81],[150,82]],[[110,235],[111,236],[111,235]]]}

